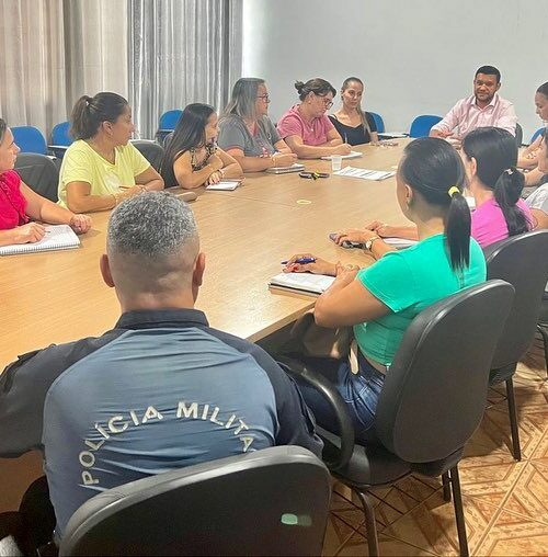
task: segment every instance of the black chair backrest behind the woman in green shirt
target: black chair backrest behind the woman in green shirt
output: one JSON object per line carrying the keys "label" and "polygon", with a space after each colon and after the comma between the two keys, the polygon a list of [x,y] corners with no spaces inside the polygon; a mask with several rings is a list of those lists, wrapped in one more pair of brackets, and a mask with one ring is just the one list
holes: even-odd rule
{"label": "black chair backrest behind the woman in green shirt", "polygon": [[489,281],[421,311],[386,375],[375,427],[383,444],[409,463],[443,459],[483,416],[494,348],[513,287]]}

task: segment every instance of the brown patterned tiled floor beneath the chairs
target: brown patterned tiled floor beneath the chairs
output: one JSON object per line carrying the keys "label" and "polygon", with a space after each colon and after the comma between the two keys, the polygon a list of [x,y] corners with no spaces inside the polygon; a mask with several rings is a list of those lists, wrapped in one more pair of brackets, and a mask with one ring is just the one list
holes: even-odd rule
{"label": "brown patterned tiled floor beneath the chairs", "polygon": [[[459,465],[471,555],[548,555],[548,382],[536,339],[514,379],[522,462],[509,448],[503,387],[491,390],[483,421]],[[441,482],[411,476],[377,492],[380,555],[458,555],[453,503]],[[363,513],[338,484],[323,555],[367,555]]]}

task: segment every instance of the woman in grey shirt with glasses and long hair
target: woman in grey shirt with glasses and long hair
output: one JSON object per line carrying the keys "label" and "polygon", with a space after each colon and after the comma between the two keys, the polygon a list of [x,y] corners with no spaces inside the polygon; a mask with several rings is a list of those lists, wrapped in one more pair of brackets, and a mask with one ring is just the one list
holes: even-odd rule
{"label": "woman in grey shirt with glasses and long hair", "polygon": [[264,79],[241,78],[235,83],[232,99],[219,123],[219,147],[244,172],[289,167],[297,159],[269,118],[269,103]]}

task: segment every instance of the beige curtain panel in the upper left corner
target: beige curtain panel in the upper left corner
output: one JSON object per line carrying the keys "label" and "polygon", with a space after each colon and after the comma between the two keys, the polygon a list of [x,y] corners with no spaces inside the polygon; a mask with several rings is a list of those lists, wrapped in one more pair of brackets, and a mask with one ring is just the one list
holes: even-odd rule
{"label": "beige curtain panel in the upper left corner", "polygon": [[46,137],[82,94],[127,96],[127,0],[0,0],[0,115]]}

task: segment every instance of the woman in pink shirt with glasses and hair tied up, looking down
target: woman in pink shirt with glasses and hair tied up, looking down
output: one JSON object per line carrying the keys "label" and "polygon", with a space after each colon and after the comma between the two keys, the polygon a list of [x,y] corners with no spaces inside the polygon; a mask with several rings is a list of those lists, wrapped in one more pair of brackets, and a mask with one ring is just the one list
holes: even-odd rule
{"label": "woman in pink shirt with glasses and hair tied up, looking down", "polygon": [[349,155],[350,145],[343,143],[326,112],[333,106],[336,91],[324,79],[297,81],[300,104],[289,109],[279,120],[277,130],[282,139],[299,159],[319,159],[330,155]]}

